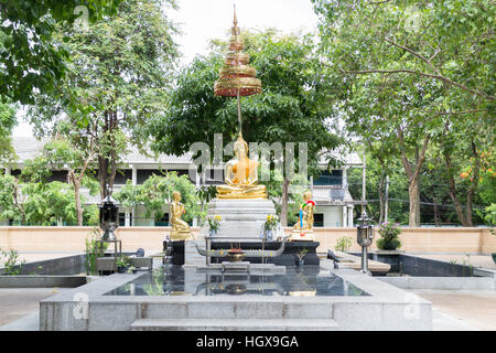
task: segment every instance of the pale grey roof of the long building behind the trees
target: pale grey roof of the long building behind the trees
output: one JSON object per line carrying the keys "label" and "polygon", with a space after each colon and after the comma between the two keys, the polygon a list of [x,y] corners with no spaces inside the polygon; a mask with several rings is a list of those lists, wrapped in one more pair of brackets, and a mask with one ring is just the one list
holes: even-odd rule
{"label": "pale grey roof of the long building behind the trees", "polygon": [[[26,160],[33,159],[40,154],[43,150],[43,146],[47,142],[47,139],[36,140],[32,137],[13,137],[12,145],[18,156],[17,163],[23,164]],[[345,153],[343,151],[332,151],[321,156],[321,165],[326,164],[326,156],[331,156],[337,160],[341,160],[343,164],[362,165],[362,160],[356,152]],[[132,147],[130,151],[122,157],[126,164],[183,164],[190,165],[192,154],[190,152],[183,156],[163,154],[160,153],[157,157],[150,152],[150,156],[140,153],[136,147]]]}

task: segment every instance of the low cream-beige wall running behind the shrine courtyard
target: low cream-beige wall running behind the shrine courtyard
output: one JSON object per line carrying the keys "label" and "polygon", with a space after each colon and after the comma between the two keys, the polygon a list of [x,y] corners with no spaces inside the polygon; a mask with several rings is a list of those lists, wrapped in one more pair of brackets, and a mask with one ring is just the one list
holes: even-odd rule
{"label": "low cream-beige wall running behind the shrine courtyard", "polygon": [[[133,252],[161,250],[162,239],[170,227],[119,227],[117,237],[122,249]],[[193,227],[196,234],[200,228]],[[289,232],[291,228],[287,228]],[[84,252],[85,239],[91,227],[26,227],[0,226],[0,248],[18,252]],[[348,236],[353,240],[352,252],[360,248],[356,244],[356,228],[314,228],[317,252],[334,249],[336,240]],[[376,239],[379,237],[376,232]],[[488,228],[402,228],[401,249],[408,253],[496,253],[496,235]],[[375,242],[371,248],[376,248]]]}

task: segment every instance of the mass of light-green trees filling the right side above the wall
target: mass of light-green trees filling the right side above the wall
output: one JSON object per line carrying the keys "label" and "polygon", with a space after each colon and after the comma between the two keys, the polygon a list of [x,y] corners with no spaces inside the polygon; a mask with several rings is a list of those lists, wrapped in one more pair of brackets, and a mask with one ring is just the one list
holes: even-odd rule
{"label": "mass of light-green trees filling the right side above the wall", "polygon": [[[459,202],[456,212],[444,210],[444,221],[459,217],[472,225],[481,189],[476,180],[463,185],[455,176],[464,168],[476,169],[474,150],[494,146],[494,129],[487,129],[495,108],[493,3],[312,2],[333,104],[351,135],[365,145],[367,161],[380,163],[373,172],[376,188],[401,163],[411,186],[410,225],[420,222],[414,204],[421,200],[455,205],[462,197],[466,206]],[[440,222],[439,215],[433,218]]]}

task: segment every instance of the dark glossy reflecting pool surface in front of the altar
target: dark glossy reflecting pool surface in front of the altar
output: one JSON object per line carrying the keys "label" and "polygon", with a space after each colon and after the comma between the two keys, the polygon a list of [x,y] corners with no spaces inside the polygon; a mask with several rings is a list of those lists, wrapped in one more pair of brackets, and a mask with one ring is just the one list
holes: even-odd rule
{"label": "dark glossy reflecting pool surface in front of the altar", "polygon": [[287,267],[287,272],[249,275],[219,271],[198,272],[169,266],[144,272],[105,296],[369,296],[358,287],[321,271],[319,266]]}

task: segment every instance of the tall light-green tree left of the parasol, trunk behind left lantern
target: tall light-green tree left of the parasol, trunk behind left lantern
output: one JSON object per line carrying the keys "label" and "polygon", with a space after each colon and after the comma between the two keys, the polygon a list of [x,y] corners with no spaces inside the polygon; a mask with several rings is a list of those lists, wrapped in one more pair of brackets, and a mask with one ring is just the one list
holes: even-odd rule
{"label": "tall light-green tree left of the parasol, trunk behind left lantern", "polygon": [[175,7],[172,0],[126,0],[86,31],[60,26],[57,44],[71,58],[66,75],[56,94],[41,93],[31,106],[37,135],[55,133],[55,122],[64,120],[72,133],[94,139],[103,199],[114,186],[119,153],[129,143],[142,148],[148,119],[166,107],[179,54],[162,6]]}

